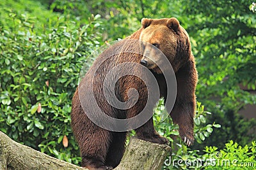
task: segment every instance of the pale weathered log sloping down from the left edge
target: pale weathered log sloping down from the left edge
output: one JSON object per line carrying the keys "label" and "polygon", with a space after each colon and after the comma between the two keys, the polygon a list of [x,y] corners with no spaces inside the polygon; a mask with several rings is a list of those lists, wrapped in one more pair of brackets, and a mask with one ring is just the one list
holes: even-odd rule
{"label": "pale weathered log sloping down from the left edge", "polygon": [[83,169],[21,145],[0,131],[0,169]]}

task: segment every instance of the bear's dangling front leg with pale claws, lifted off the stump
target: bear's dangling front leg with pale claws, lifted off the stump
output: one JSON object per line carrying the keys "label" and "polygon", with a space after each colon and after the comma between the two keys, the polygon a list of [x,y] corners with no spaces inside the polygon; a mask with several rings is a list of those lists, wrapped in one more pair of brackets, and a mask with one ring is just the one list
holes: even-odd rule
{"label": "bear's dangling front leg with pale claws, lifted off the stump", "polygon": [[195,88],[197,72],[193,60],[179,69],[176,74],[177,97],[171,112],[173,123],[179,125],[180,138],[190,146],[194,141],[194,115],[196,107]]}

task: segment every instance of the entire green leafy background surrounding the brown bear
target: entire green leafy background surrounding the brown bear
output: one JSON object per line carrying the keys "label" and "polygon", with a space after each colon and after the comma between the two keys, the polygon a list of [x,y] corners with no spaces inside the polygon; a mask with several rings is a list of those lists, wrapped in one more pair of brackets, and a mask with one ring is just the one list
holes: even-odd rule
{"label": "entire green leafy background surrounding the brown bear", "polygon": [[[246,104],[256,104],[252,7],[250,1],[223,0],[0,0],[0,130],[79,165],[70,111],[84,62],[90,66],[90,54],[105,41],[125,38],[140,28],[143,17],[176,17],[191,37],[199,81],[193,146],[182,143],[170,118],[161,122],[162,100],[155,111],[157,131],[172,141],[172,160],[237,159],[237,164],[253,162],[254,167],[246,168],[255,169],[256,120],[239,115]],[[218,168],[177,162],[163,166]],[[225,168],[243,169],[221,166]]]}

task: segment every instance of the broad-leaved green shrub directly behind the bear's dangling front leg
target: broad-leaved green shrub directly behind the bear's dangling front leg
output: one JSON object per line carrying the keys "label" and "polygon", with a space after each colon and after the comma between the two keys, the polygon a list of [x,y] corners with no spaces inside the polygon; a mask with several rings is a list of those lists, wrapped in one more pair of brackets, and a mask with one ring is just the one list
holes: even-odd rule
{"label": "broad-leaved green shrub directly behind the bear's dangling front leg", "polygon": [[[159,104],[155,110],[154,113],[154,126],[156,127],[157,132],[159,132],[160,135],[166,137],[169,139],[169,141],[172,143],[172,155],[168,156],[166,158],[165,166],[163,166],[163,169],[187,169],[186,166],[179,166],[177,164],[170,164],[170,157],[172,159],[191,159],[194,160],[200,155],[198,155],[198,150],[191,150],[191,148],[188,148],[188,146],[185,145],[185,143],[180,139],[179,136],[179,126],[177,124],[173,124],[172,118],[168,117],[166,120],[162,120],[163,115],[166,113],[163,106],[164,101],[160,100]],[[197,103],[196,108],[196,115],[194,118],[195,122],[195,143],[202,143],[202,141],[205,140],[205,138],[209,138],[211,136],[211,133],[213,131],[213,128],[220,128],[220,124],[207,124],[205,118],[207,115],[211,113],[204,111],[204,106],[201,103]],[[170,165],[169,165],[170,164]]]}

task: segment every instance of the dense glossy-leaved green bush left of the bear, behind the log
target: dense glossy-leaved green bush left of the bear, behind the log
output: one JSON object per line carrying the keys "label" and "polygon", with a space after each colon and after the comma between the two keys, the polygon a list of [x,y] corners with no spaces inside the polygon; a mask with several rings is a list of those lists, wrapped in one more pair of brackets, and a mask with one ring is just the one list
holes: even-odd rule
{"label": "dense glossy-leaved green bush left of the bear, behind the log", "polygon": [[[92,16],[83,27],[58,17],[49,29],[35,31],[35,18],[6,11],[14,22],[10,29],[3,29],[2,22],[8,20],[0,25],[0,130],[24,145],[78,164],[70,129],[71,99],[86,57],[99,45],[99,17]],[[67,148],[61,144],[65,135]]]}

